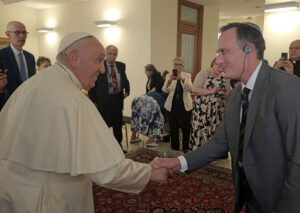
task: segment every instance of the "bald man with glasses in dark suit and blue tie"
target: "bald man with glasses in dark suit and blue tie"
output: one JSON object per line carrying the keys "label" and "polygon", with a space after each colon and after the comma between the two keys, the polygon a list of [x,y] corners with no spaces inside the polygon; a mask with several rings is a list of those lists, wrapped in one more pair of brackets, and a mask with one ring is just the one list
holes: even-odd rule
{"label": "bald man with glasses in dark suit and blue tie", "polygon": [[0,91],[0,110],[17,87],[35,74],[34,56],[23,50],[28,34],[25,25],[11,21],[7,24],[5,34],[10,45],[0,50],[0,59],[7,69],[7,85]]}

